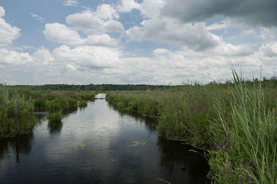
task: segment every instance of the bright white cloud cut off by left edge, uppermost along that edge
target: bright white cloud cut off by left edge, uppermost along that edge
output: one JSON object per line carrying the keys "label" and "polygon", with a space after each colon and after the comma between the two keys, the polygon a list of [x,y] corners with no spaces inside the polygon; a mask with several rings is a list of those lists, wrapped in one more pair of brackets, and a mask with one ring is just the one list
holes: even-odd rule
{"label": "bright white cloud cut off by left edge, uppermost along that edge", "polygon": [[3,16],[5,16],[5,10],[0,6],[0,46],[9,45],[20,36],[20,29],[12,27],[10,23],[6,23],[2,18]]}

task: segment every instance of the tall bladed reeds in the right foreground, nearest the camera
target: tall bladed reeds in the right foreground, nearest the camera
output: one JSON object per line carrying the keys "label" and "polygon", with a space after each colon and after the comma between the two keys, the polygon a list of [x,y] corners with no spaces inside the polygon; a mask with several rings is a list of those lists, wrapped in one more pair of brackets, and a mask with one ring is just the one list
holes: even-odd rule
{"label": "tall bladed reeds in the right foreground, nearest the camera", "polygon": [[[222,132],[229,147],[211,152],[213,179],[220,183],[277,183],[277,106],[267,105],[255,85],[244,87],[234,70],[233,83],[231,118],[224,118],[222,106],[215,104],[219,118],[215,120],[218,129],[213,131]],[[218,161],[219,156],[224,161]]]}

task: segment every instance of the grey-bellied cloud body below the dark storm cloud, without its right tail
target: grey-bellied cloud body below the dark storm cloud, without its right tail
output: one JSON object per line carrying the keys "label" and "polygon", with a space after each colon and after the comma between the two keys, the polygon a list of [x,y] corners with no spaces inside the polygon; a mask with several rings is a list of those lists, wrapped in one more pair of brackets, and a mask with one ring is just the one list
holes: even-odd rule
{"label": "grey-bellied cloud body below the dark storm cloud, without its right tail", "polygon": [[206,50],[220,44],[220,37],[206,30],[204,23],[179,23],[172,19],[148,19],[143,28],[137,26],[126,31],[130,39],[172,43],[179,48]]}

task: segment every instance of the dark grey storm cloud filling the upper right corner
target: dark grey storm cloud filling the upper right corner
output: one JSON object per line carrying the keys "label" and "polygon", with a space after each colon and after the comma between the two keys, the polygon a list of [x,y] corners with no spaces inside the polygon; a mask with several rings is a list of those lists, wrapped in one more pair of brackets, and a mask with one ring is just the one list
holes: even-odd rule
{"label": "dark grey storm cloud filling the upper right corner", "polygon": [[277,26],[277,1],[275,0],[165,0],[161,14],[183,22],[204,21],[222,15],[248,25]]}

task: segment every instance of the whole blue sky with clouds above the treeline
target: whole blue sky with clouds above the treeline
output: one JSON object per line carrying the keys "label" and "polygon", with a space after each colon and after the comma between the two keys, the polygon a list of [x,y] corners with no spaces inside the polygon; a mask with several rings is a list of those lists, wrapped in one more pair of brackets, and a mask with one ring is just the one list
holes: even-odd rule
{"label": "whole blue sky with clouds above the treeline", "polygon": [[1,0],[0,83],[277,76],[276,0]]}

